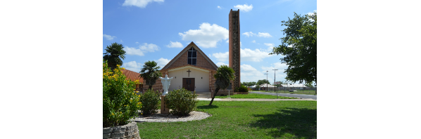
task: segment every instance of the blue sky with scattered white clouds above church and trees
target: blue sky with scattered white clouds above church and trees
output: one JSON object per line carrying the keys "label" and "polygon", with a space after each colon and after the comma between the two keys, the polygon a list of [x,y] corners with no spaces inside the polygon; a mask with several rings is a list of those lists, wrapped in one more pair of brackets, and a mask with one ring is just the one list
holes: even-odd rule
{"label": "blue sky with scattered white clouds above church and trees", "polygon": [[[122,44],[126,55],[121,67],[140,72],[149,60],[158,62],[162,69],[193,41],[218,67],[229,65],[231,9],[240,11],[241,82],[285,81],[288,65],[279,60],[284,56],[268,54],[285,37],[282,30],[286,26],[281,21],[294,18],[294,12],[317,12],[316,0],[104,0],[103,53],[115,42]],[[273,69],[278,70],[275,73]]]}

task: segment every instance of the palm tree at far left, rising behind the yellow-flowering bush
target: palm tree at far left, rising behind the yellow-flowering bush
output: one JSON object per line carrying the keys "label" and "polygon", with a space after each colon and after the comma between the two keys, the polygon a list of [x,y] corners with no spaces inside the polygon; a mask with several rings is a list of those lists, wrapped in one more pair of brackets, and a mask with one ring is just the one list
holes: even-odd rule
{"label": "palm tree at far left, rising behind the yellow-flowering bush", "polygon": [[111,44],[111,46],[107,46],[105,49],[106,53],[103,53],[106,55],[103,55],[102,59],[107,61],[108,67],[111,68],[111,71],[113,71],[117,65],[122,65],[121,59],[125,59],[126,51],[122,48],[122,44],[117,44],[115,42]]}

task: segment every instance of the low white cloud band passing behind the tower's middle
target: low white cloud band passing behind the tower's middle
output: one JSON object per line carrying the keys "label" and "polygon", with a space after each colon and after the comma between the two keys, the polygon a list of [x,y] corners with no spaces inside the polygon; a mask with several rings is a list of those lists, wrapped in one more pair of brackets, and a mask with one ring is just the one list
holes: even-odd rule
{"label": "low white cloud band passing behind the tower's middle", "polygon": [[[270,50],[272,51],[272,50]],[[273,55],[269,55],[269,49],[265,51],[260,51],[259,49],[251,50],[249,48],[240,48],[240,62],[242,61],[253,61],[253,62],[260,62],[263,61],[263,58],[269,58]],[[215,57],[220,62],[225,62],[229,60],[230,53],[213,53],[213,57]]]}

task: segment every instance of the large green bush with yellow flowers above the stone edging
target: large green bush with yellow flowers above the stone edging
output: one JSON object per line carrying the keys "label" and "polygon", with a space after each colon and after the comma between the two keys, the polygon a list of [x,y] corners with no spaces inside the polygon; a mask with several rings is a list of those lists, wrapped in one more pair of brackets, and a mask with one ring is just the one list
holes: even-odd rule
{"label": "large green bush with yellow flowers above the stone edging", "polygon": [[139,81],[127,80],[120,65],[111,71],[106,61],[102,61],[102,126],[122,126],[137,116],[142,107],[134,88]]}

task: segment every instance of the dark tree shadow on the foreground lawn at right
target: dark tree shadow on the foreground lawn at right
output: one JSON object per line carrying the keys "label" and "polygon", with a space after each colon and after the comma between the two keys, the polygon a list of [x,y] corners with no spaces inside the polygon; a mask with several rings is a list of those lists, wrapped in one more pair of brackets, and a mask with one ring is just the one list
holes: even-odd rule
{"label": "dark tree shadow on the foreground lawn at right", "polygon": [[287,133],[297,138],[317,138],[317,112],[307,108],[287,107],[277,110],[275,114],[253,114],[253,117],[260,120],[250,126],[270,129],[268,134],[273,138],[280,138]]}

